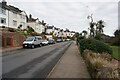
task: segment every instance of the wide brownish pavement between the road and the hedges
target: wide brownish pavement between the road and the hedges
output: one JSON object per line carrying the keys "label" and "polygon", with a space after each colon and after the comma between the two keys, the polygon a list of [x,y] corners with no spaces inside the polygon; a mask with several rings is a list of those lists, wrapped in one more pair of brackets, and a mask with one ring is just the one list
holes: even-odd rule
{"label": "wide brownish pavement between the road and the hedges", "polygon": [[90,78],[75,42],[71,44],[47,78]]}

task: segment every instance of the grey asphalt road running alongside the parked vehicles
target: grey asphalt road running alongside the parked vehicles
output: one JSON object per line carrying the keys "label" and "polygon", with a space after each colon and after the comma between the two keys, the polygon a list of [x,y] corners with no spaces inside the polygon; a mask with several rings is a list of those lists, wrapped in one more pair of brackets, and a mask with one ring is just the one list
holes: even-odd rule
{"label": "grey asphalt road running alongside the parked vehicles", "polygon": [[3,78],[45,78],[72,41],[35,49],[7,52],[2,57]]}

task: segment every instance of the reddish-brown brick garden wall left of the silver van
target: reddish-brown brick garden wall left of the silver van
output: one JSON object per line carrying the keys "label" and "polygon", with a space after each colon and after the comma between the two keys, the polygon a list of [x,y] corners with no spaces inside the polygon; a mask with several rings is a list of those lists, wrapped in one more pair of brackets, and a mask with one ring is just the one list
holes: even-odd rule
{"label": "reddish-brown brick garden wall left of the silver van", "polygon": [[2,32],[2,47],[18,47],[22,46],[26,37],[23,34],[15,32]]}

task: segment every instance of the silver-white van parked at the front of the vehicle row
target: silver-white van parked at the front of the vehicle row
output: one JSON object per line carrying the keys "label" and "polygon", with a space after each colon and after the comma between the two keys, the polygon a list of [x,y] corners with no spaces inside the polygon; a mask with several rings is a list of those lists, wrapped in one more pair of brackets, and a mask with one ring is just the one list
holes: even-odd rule
{"label": "silver-white van parked at the front of the vehicle row", "polygon": [[41,36],[31,36],[28,37],[24,42],[23,42],[23,48],[25,47],[31,47],[35,48],[36,46],[42,46],[42,37]]}

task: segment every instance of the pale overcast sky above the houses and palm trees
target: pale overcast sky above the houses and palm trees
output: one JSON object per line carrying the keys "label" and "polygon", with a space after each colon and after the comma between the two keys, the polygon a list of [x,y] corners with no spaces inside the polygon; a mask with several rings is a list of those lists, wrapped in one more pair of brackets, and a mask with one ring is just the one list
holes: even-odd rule
{"label": "pale overcast sky above the houses and palm trees", "polygon": [[[0,0],[2,1],[2,0]],[[103,20],[104,33],[113,36],[118,29],[118,0],[6,0],[8,5],[24,10],[49,25],[71,31],[88,31],[93,14],[94,21]]]}

